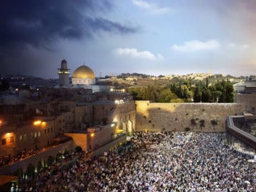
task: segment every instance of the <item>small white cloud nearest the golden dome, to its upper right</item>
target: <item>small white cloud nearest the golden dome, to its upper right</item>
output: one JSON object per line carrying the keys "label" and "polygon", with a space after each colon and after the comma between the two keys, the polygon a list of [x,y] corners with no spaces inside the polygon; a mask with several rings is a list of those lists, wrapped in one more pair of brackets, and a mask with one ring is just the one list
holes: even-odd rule
{"label": "small white cloud nearest the golden dome, to its upper right", "polygon": [[163,59],[163,55],[158,53],[157,55],[154,55],[148,50],[138,51],[137,48],[117,48],[114,50],[114,53],[117,53],[117,55],[124,55],[132,58],[143,58],[147,60],[156,60],[156,59]]}

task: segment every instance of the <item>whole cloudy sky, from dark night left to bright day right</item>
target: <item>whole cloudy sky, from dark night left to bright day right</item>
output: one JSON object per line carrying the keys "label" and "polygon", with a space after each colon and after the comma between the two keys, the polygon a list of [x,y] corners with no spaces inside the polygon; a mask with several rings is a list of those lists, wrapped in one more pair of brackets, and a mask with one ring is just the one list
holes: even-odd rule
{"label": "whole cloudy sky, from dark night left to bright day right", "polygon": [[[255,0],[1,0],[0,74],[255,75]],[[71,75],[72,76],[72,75]]]}

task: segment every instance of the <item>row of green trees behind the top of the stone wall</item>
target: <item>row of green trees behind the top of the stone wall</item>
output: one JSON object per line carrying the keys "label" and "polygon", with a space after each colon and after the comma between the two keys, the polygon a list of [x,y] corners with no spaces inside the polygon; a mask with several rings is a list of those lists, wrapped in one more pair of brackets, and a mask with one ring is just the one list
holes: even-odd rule
{"label": "row of green trees behind the top of the stone wall", "polygon": [[128,87],[134,100],[151,100],[152,102],[234,102],[234,88],[228,80],[208,85],[190,81],[171,83],[165,86],[147,85],[146,87]]}

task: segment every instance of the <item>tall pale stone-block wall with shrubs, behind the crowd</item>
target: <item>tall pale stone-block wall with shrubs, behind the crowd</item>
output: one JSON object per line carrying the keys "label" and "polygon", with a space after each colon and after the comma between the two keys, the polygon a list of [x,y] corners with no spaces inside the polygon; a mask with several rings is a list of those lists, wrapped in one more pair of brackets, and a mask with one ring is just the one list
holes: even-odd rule
{"label": "tall pale stone-block wall with shrubs, behind the crowd", "polygon": [[137,101],[136,130],[224,132],[228,115],[240,115],[241,103],[151,103]]}

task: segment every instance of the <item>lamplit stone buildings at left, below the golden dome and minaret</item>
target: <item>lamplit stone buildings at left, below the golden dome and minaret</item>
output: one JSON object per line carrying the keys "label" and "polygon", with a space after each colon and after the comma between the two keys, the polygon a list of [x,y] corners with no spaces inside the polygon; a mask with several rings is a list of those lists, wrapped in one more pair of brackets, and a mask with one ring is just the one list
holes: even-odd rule
{"label": "lamplit stone buildings at left, below the golden dome and minaret", "polygon": [[[135,104],[127,93],[96,94],[84,88],[39,92],[40,97],[36,98],[23,100],[17,96],[1,100],[0,161],[9,156],[18,158],[23,151],[48,150],[61,142],[65,134],[72,136],[73,146],[80,140],[83,149],[89,150],[111,142],[119,133],[132,134],[135,129]],[[115,102],[121,99],[125,102]],[[95,129],[93,138],[87,132],[90,128]]]}

